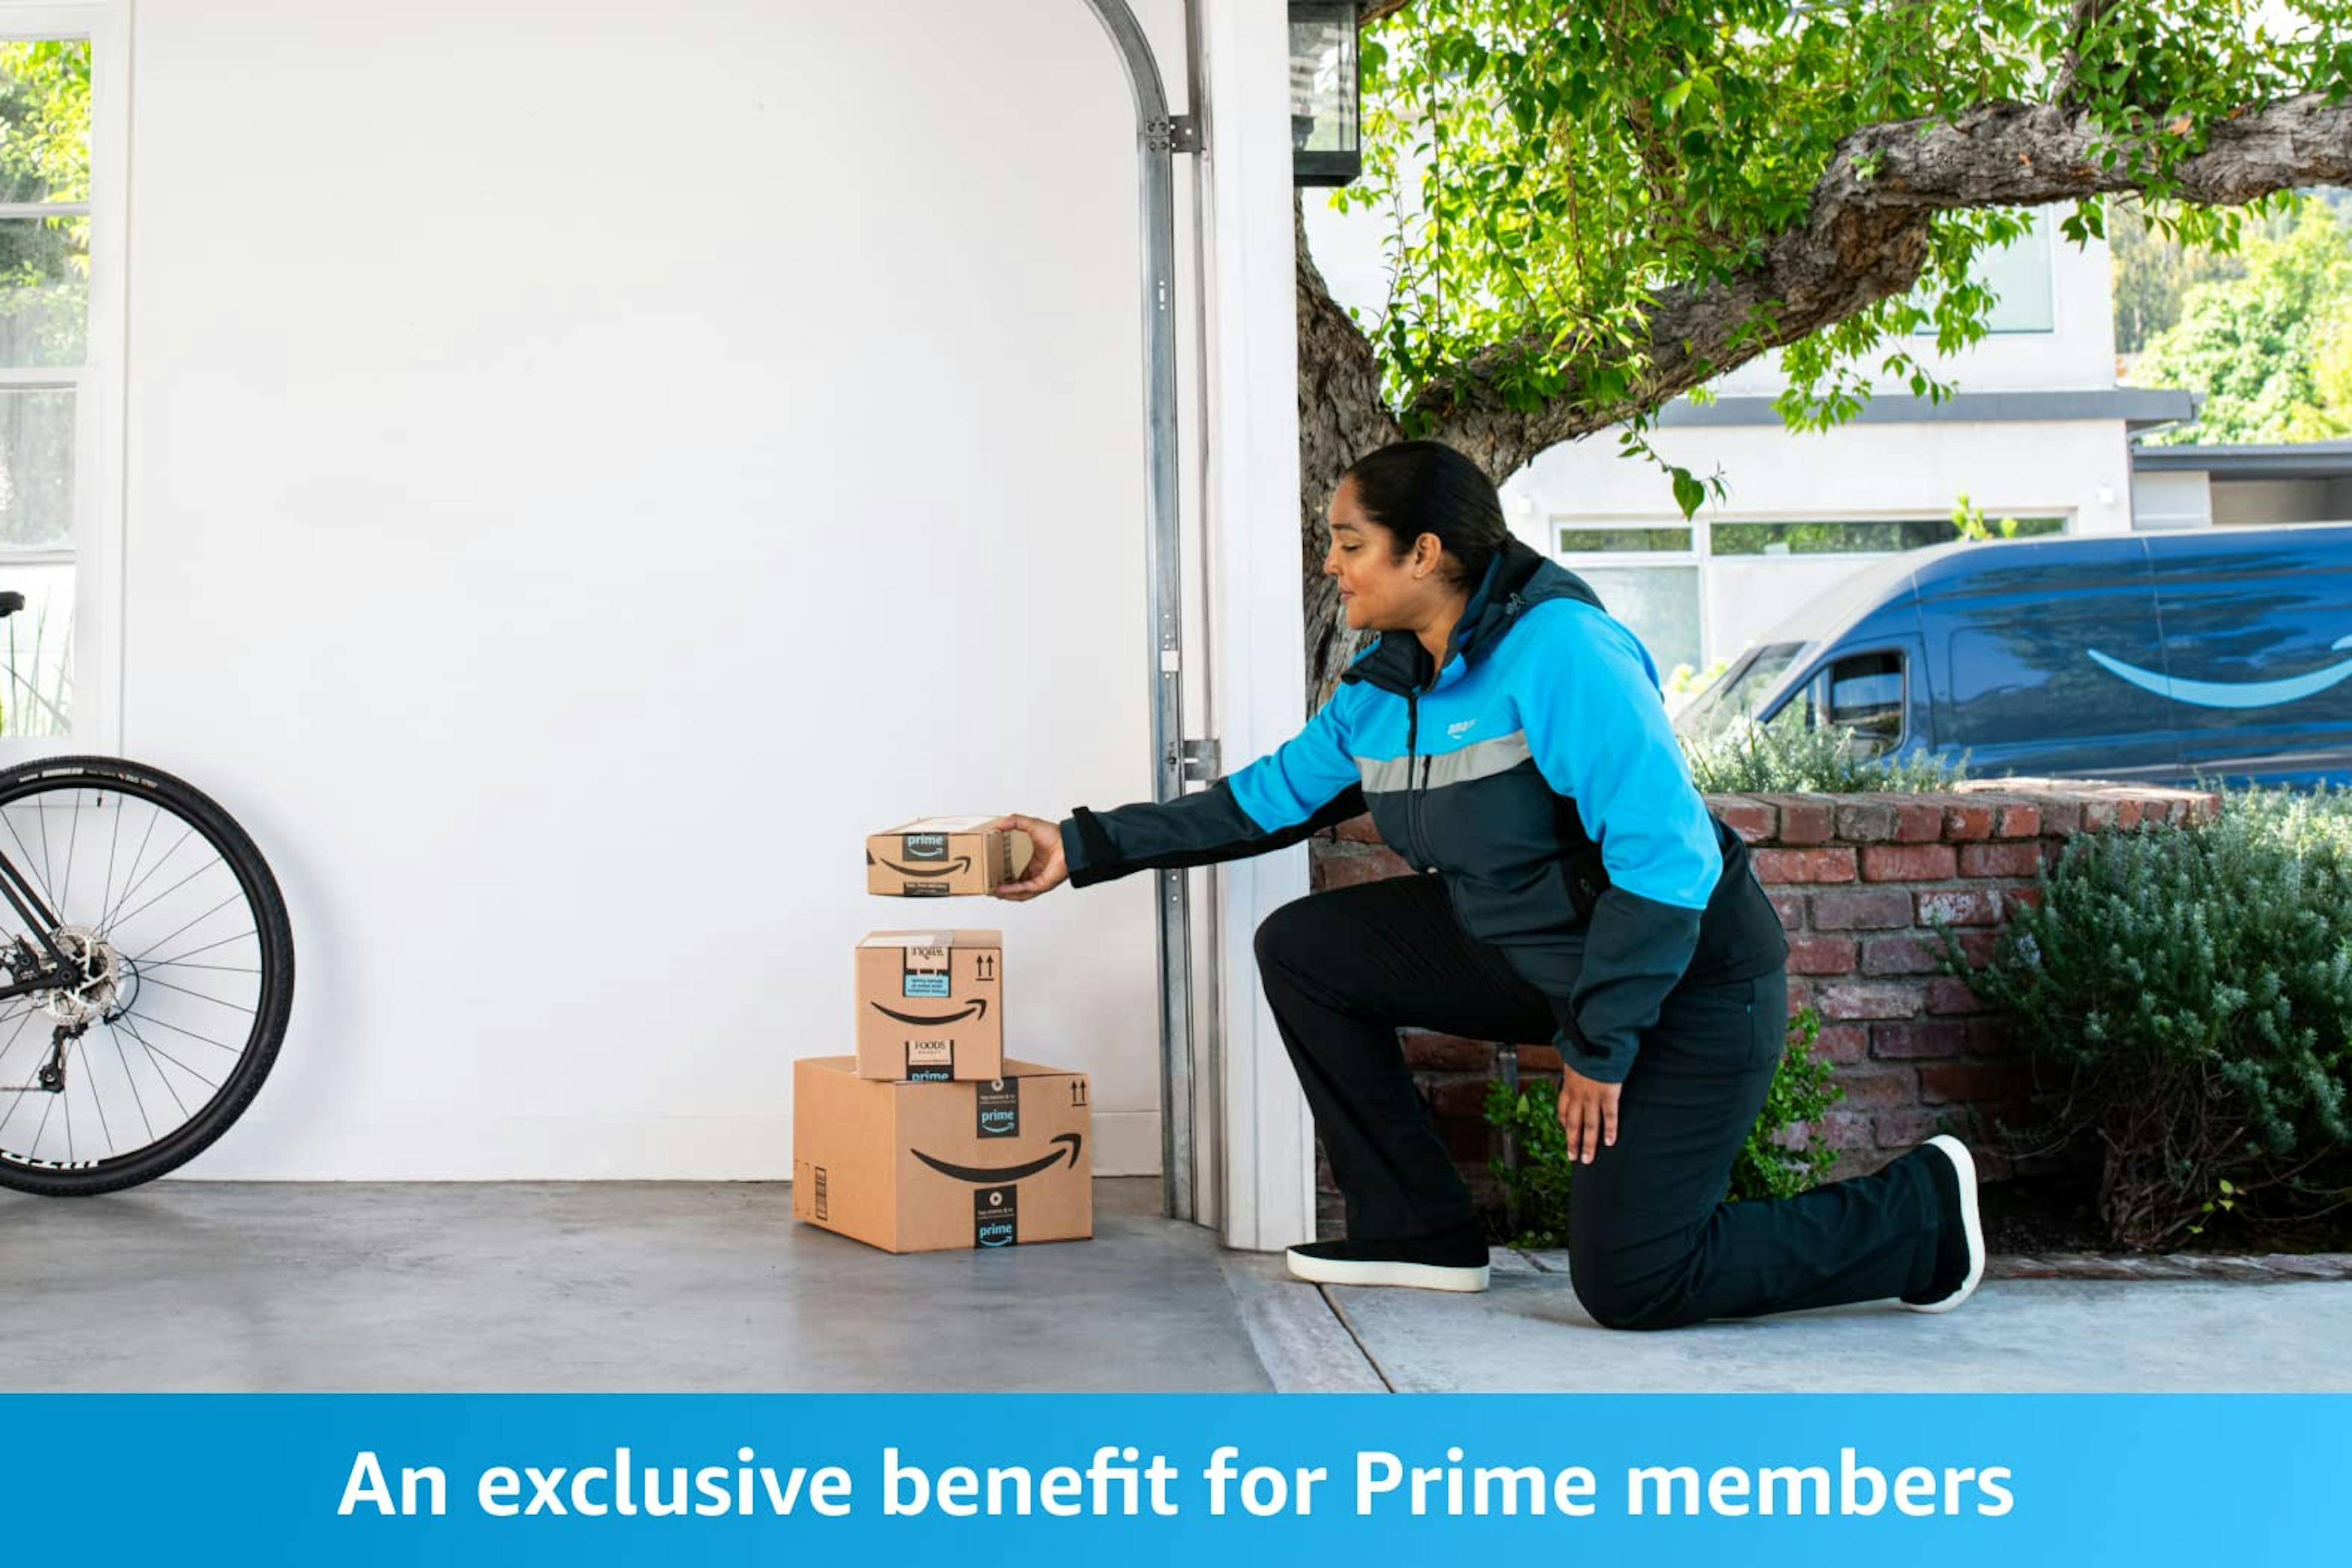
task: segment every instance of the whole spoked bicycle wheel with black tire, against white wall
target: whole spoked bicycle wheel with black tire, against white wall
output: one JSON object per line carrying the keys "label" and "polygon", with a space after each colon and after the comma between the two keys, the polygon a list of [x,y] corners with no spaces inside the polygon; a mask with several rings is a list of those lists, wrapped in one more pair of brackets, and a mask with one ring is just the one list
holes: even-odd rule
{"label": "whole spoked bicycle wheel with black tire, against white wall", "polygon": [[56,976],[52,947],[78,966],[0,1001],[0,1187],[80,1197],[186,1164],[252,1105],[294,1006],[261,851],[169,773],[56,757],[0,771],[0,858],[56,917],[0,903],[0,969]]}

